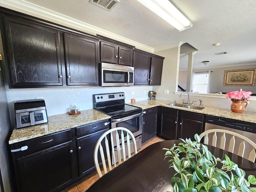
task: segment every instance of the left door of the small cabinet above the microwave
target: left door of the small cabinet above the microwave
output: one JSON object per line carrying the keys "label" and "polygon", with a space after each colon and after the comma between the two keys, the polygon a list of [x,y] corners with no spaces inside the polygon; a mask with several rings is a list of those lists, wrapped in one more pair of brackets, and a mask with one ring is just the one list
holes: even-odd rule
{"label": "left door of the small cabinet above the microwave", "polygon": [[118,46],[116,44],[101,41],[100,61],[118,64]]}

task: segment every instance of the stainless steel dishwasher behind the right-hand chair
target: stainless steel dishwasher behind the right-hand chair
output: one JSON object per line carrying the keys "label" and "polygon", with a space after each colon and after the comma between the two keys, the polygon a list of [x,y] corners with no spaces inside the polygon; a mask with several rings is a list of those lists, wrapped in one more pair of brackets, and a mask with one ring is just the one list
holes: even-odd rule
{"label": "stainless steel dishwasher behind the right-hand chair", "polygon": [[[229,130],[240,135],[243,135],[254,143],[256,143],[256,124],[250,122],[244,122],[239,120],[227,119],[222,117],[215,117],[215,116],[206,116],[206,123],[205,123],[205,131],[210,129],[224,129]],[[220,148],[220,137],[222,133],[217,133],[217,146]],[[213,133],[208,134],[209,136],[209,143],[212,143],[212,136]],[[226,142],[231,139],[230,134],[226,134]],[[238,148],[241,139],[237,138],[234,148],[234,154],[238,154]],[[248,159],[250,152],[252,151],[252,146],[245,142],[246,150],[244,152],[244,158]],[[225,147],[225,150],[228,151],[228,145]]]}

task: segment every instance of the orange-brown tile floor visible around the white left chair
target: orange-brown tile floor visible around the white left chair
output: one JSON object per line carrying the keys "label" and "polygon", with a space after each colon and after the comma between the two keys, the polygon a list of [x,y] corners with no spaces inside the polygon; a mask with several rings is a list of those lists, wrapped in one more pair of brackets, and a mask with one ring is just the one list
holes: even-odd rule
{"label": "orange-brown tile floor visible around the white left chair", "polygon": [[[140,152],[147,146],[160,141],[164,141],[164,139],[158,136],[154,136],[151,139],[147,140],[146,142],[142,143],[142,147],[138,150],[138,152]],[[72,184],[68,188],[62,190],[61,192],[85,192],[98,179],[99,179],[99,176],[95,171],[92,174],[86,176],[85,178],[82,178],[78,182]]]}

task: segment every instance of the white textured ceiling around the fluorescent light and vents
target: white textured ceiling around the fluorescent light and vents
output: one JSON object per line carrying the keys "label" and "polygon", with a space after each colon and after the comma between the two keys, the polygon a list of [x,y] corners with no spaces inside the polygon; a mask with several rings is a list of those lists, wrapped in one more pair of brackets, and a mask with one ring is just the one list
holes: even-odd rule
{"label": "white textured ceiling around the fluorescent light and vents", "polygon": [[[29,2],[40,6],[38,10],[52,10],[155,50],[188,43],[198,49],[195,68],[204,67],[205,60],[210,61],[207,66],[254,63],[256,68],[255,0],[172,0],[193,23],[192,28],[182,32],[137,0],[120,0],[110,12],[89,0],[0,0],[0,5],[10,8],[8,2],[19,7]],[[217,42],[220,46],[213,46]],[[225,51],[228,54],[214,54]],[[186,65],[186,56],[181,56],[180,68]]]}

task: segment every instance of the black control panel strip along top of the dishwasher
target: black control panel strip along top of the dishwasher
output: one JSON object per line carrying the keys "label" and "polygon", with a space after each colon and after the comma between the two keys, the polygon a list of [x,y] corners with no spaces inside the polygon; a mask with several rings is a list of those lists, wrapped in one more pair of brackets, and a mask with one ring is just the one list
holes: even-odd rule
{"label": "black control panel strip along top of the dishwasher", "polygon": [[256,124],[250,122],[207,115],[206,123],[256,133]]}

